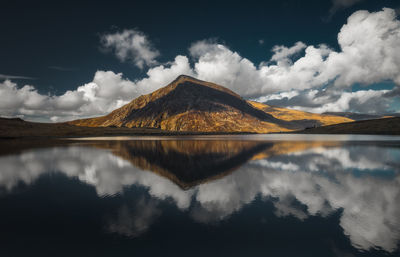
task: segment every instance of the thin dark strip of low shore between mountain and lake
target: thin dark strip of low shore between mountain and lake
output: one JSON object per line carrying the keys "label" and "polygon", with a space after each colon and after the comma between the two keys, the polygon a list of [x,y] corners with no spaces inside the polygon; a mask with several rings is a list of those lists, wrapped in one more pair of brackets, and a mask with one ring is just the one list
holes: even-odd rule
{"label": "thin dark strip of low shore between mountain and lake", "polygon": [[65,139],[83,137],[171,137],[171,136],[230,136],[274,134],[324,135],[400,135],[400,117],[362,120],[289,132],[254,133],[246,131],[197,132],[165,131],[157,128],[81,127],[65,123],[35,123],[21,119],[0,119],[0,140],[8,139]]}

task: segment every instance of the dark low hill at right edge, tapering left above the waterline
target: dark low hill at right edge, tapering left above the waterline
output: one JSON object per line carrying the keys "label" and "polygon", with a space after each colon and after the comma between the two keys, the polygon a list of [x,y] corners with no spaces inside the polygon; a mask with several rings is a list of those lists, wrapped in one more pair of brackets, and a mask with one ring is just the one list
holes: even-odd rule
{"label": "dark low hill at right edge, tapering left above the waterline", "polygon": [[310,128],[299,131],[299,133],[400,135],[400,117],[341,123],[318,128]]}

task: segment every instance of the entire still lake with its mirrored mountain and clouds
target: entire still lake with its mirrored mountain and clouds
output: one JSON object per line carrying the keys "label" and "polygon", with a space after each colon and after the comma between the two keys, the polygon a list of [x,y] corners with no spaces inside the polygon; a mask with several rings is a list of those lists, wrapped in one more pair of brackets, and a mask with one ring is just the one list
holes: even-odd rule
{"label": "entire still lake with its mirrored mountain and clouds", "polygon": [[0,256],[400,256],[400,137],[0,144]]}

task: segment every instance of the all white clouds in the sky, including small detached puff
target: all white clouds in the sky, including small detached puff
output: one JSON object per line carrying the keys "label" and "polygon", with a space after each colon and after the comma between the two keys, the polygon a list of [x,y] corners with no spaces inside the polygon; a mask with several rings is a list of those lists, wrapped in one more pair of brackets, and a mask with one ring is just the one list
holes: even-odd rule
{"label": "all white clouds in the sky, including small detached puff", "polygon": [[[389,8],[353,13],[338,33],[339,51],[299,41],[273,47],[270,60],[260,64],[223,44],[202,40],[190,46],[189,56],[156,65],[159,52],[136,30],[104,35],[102,43],[121,61],[152,66],[146,77],[131,81],[121,73],[97,71],[92,82],[61,96],[5,80],[0,97],[7,100],[0,104],[0,115],[53,121],[104,115],[180,74],[224,85],[247,98],[311,112],[399,111],[390,108],[400,92],[400,21]],[[392,89],[369,88],[388,81]],[[353,92],[354,85],[365,88]]]}

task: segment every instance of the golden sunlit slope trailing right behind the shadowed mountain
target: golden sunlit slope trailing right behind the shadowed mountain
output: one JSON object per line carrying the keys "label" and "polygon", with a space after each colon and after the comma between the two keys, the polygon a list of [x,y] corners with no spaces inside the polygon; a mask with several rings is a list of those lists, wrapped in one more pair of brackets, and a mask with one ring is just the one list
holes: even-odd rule
{"label": "golden sunlit slope trailing right behind the shadowed mountain", "polygon": [[281,107],[273,107],[266,104],[248,101],[253,107],[263,110],[268,114],[271,114],[273,117],[285,120],[285,121],[296,121],[296,120],[314,120],[318,121],[321,126],[327,126],[332,124],[339,124],[344,122],[352,122],[352,119],[336,116],[336,115],[328,115],[328,114],[316,114],[310,112],[303,112],[288,108]]}

